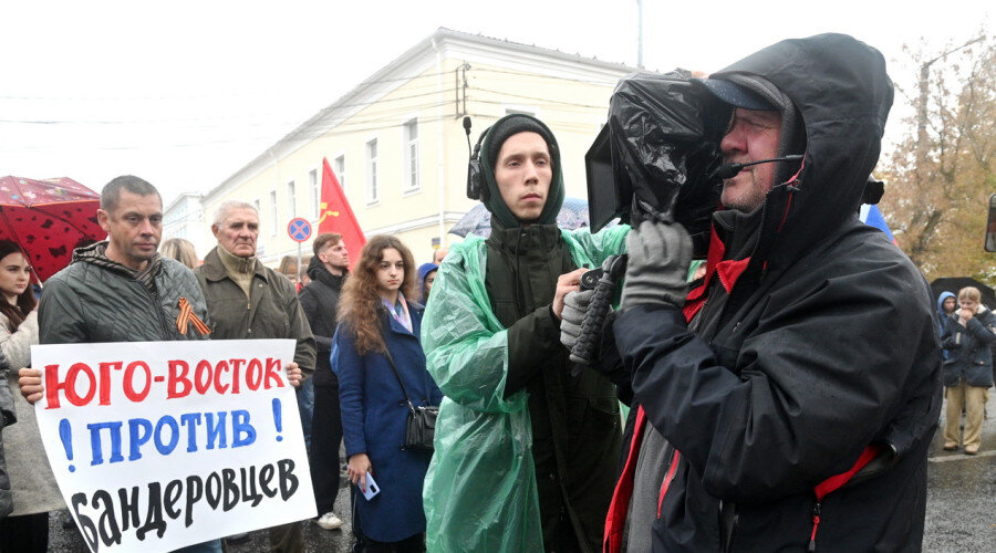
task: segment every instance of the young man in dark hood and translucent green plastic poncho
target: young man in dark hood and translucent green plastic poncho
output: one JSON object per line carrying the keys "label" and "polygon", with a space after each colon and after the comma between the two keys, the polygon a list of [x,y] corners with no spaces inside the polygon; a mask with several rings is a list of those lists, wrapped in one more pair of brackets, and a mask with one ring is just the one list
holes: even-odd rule
{"label": "young man in dark hood and translucent green plastic poncho", "polygon": [[491,234],[452,248],[422,332],[446,396],[424,489],[427,547],[598,551],[619,403],[600,374],[571,376],[559,325],[579,268],[620,253],[629,228],[557,228],[560,152],[535,117],[499,119],[479,146],[469,188],[491,212]]}

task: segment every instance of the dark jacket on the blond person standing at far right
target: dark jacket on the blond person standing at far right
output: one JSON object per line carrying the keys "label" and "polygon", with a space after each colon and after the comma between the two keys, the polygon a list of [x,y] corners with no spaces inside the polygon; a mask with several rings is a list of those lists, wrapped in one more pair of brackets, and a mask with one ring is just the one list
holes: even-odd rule
{"label": "dark jacket on the blond person standing at far right", "polygon": [[979,305],[975,316],[962,326],[957,312],[947,317],[941,345],[951,352],[944,359],[945,386],[957,386],[964,378],[968,386],[988,388],[993,385],[993,353],[989,343],[996,340],[996,315]]}

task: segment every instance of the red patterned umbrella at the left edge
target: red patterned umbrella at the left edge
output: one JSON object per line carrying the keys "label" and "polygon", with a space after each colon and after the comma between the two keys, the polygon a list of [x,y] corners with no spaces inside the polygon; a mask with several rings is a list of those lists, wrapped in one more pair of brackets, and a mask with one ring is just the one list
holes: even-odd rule
{"label": "red patterned umbrella at the left edge", "polygon": [[77,246],[103,240],[97,192],[71,178],[0,177],[0,239],[13,240],[44,281],[65,268]]}

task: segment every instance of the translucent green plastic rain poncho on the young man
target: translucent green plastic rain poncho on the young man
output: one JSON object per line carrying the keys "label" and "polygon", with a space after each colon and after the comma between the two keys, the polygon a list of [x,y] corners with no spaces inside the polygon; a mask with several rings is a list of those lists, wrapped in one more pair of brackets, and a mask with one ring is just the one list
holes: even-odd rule
{"label": "translucent green plastic rain poncho on the young man", "polygon": [[[624,249],[629,227],[561,231],[578,267]],[[423,322],[427,368],[446,396],[423,491],[428,551],[542,551],[528,393],[505,397],[508,340],[470,236],[439,268]]]}

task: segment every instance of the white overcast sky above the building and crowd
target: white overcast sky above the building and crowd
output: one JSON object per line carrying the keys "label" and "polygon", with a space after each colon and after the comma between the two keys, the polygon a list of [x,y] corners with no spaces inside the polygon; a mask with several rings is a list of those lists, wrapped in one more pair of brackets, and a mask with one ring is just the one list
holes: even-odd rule
{"label": "white overcast sky above the building and crowd", "polygon": [[[993,2],[644,0],[644,65],[710,72],[778,40],[852,34],[940,53]],[[0,176],[205,192],[439,27],[636,64],[636,0],[18,1],[0,7]],[[992,32],[992,31],[990,31]],[[909,115],[896,94],[889,133]]]}

